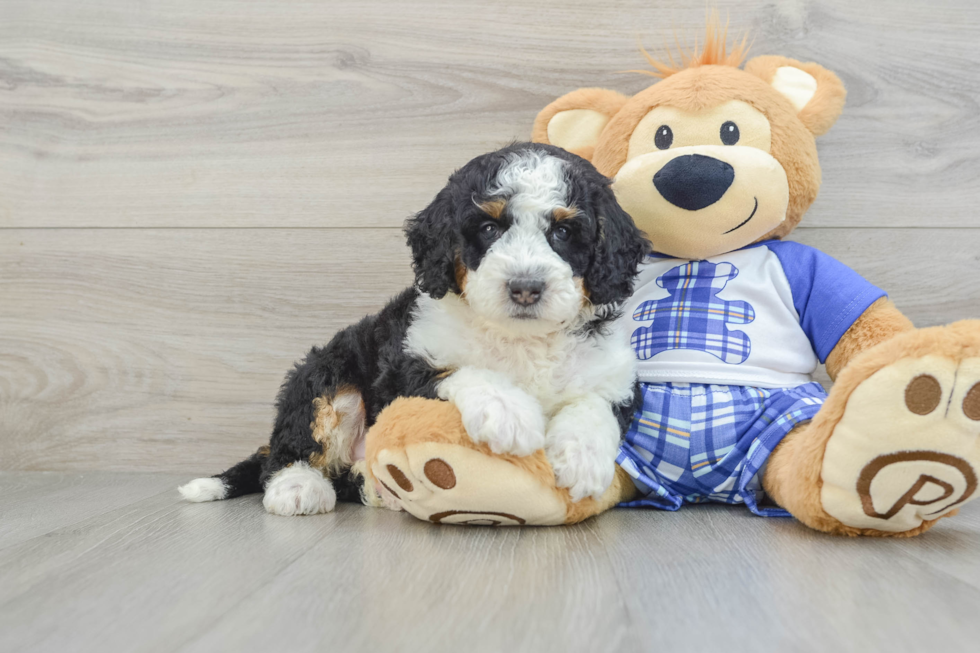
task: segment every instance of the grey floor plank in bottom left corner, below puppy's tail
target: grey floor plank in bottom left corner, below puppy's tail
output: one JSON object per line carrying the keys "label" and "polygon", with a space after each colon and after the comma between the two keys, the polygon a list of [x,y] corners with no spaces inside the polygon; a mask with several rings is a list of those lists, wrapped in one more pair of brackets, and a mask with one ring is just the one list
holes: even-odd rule
{"label": "grey floor plank in bottom left corner, below puppy's tail", "polygon": [[214,505],[194,510],[172,488],[0,551],[0,649],[173,650],[345,518],[277,521],[256,497]]}

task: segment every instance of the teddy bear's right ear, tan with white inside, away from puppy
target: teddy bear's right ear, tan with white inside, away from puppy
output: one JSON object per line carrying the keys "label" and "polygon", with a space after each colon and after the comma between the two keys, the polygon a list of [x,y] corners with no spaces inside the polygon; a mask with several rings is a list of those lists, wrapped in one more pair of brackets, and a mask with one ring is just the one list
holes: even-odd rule
{"label": "teddy bear's right ear, tan with white inside, away from puppy", "polygon": [[745,72],[761,78],[789,100],[814,136],[833,127],[844,110],[844,83],[823,66],[764,56],[745,64]]}

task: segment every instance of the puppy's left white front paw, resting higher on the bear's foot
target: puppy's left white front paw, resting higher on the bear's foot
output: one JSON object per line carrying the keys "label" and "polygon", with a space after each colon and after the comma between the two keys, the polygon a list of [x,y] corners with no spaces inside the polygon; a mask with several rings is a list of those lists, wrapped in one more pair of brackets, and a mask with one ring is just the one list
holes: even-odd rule
{"label": "puppy's left white front paw, resting higher on the bear's foot", "polygon": [[454,403],[474,442],[486,442],[494,453],[529,456],[544,447],[544,411],[531,395],[517,388],[470,388]]}

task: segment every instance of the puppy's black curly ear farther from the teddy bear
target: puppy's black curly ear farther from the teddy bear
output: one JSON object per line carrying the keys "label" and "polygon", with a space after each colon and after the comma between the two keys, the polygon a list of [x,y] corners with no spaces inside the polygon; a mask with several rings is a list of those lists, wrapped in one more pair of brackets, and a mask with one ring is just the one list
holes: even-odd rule
{"label": "puppy's black curly ear farther from the teddy bear", "polygon": [[435,299],[450,291],[459,294],[456,256],[460,242],[449,188],[439,191],[429,206],[405,222],[405,236],[412,248],[416,287]]}

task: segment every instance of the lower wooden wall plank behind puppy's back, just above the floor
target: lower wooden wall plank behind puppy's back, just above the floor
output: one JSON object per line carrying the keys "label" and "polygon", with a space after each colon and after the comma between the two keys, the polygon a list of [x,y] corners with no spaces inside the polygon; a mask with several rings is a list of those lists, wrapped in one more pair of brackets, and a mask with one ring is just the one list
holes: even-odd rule
{"label": "lower wooden wall plank behind puppy's back, just above the floor", "polygon": [[[295,360],[411,283],[391,229],[6,233],[0,469],[217,473],[266,441]],[[920,326],[980,315],[980,230],[795,237]]]}

